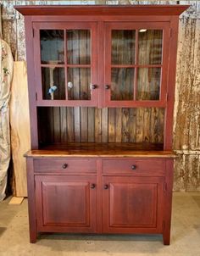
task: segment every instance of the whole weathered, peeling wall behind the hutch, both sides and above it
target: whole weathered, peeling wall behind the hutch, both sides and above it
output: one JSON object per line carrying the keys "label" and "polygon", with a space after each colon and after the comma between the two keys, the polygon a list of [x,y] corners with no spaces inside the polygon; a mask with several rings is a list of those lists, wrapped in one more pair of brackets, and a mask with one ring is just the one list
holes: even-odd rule
{"label": "whole weathered, peeling wall behind the hutch, both sides and above it", "polygon": [[14,4],[191,4],[180,18],[175,91],[174,191],[200,192],[200,2],[199,1],[0,1],[3,39],[16,60],[25,60],[24,20]]}

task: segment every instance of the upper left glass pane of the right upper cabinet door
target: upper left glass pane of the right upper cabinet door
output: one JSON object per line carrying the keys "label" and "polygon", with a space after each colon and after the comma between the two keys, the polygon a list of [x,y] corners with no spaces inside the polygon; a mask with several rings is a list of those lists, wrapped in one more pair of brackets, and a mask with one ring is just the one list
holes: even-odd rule
{"label": "upper left glass pane of the right upper cabinet door", "polygon": [[136,31],[112,31],[112,64],[135,63]]}

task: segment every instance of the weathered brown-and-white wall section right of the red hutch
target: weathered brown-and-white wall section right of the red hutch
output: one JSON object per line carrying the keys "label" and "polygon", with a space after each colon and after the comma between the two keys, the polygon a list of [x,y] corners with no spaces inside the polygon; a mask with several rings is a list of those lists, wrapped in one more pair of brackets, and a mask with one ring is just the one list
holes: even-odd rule
{"label": "weathered brown-and-white wall section right of the red hutch", "polygon": [[[195,8],[195,6],[193,6]],[[180,20],[175,90],[174,190],[200,191],[200,5],[194,19]]]}

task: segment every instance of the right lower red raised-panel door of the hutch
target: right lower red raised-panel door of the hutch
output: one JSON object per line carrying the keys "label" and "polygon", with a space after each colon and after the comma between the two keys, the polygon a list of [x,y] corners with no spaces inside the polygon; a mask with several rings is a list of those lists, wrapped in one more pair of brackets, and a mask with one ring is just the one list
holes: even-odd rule
{"label": "right lower red raised-panel door of the hutch", "polygon": [[103,177],[104,233],[160,233],[164,178]]}

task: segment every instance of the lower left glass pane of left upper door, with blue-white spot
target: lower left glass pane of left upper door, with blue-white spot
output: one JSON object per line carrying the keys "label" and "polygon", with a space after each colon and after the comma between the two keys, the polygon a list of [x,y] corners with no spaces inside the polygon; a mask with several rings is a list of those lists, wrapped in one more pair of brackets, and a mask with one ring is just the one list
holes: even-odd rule
{"label": "lower left glass pane of left upper door, with blue-white spot", "polygon": [[42,68],[43,99],[65,99],[64,68]]}

